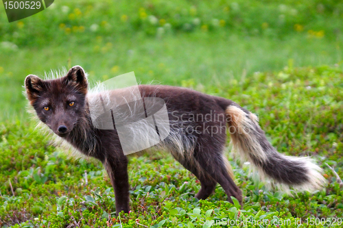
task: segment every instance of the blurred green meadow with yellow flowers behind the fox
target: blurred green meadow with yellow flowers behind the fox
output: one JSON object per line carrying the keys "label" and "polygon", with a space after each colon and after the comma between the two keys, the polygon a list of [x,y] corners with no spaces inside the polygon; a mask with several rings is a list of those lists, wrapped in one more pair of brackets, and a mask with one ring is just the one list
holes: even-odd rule
{"label": "blurred green meadow with yellow flowers behind the fox", "polygon": [[[0,4],[0,120],[25,117],[26,75],[80,65],[91,81],[200,87],[294,66],[342,68],[342,1],[55,1],[8,23]],[[25,117],[26,118],[26,117]]]}

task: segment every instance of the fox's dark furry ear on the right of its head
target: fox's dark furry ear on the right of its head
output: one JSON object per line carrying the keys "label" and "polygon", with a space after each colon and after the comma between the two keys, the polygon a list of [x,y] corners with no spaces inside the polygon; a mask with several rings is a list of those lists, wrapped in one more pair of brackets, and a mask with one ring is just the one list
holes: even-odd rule
{"label": "fox's dark furry ear on the right of its head", "polygon": [[84,69],[81,66],[73,66],[67,73],[67,83],[71,86],[75,86],[77,90],[86,94],[87,92],[87,77],[84,73]]}

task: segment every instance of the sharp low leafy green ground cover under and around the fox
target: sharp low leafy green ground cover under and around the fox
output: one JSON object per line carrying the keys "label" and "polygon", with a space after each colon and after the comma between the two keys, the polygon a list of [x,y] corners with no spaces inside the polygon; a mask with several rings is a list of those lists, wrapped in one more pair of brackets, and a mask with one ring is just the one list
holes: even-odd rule
{"label": "sharp low leafy green ground cover under and around the fox", "polygon": [[[255,77],[240,81],[230,79],[228,84],[218,82],[203,88],[204,92],[228,97],[259,114],[260,125],[279,151],[314,156],[325,170],[329,181],[326,188],[314,194],[294,193],[294,197],[267,190],[264,183],[252,180],[248,166],[231,159],[236,182],[245,196],[244,209],[239,211],[235,205],[226,203],[220,186],[209,200],[193,199],[200,183],[170,155],[132,155],[129,168],[132,213],[121,214],[123,227],[139,227],[135,224],[137,219],[143,225],[154,227],[161,223],[165,223],[165,227],[192,227],[189,222],[201,225],[204,221],[201,218],[244,216],[242,218],[258,220],[276,216],[279,220],[291,219],[292,223],[296,218],[303,221],[311,217],[342,218],[343,191],[335,175],[324,165],[333,166],[342,177],[342,76],[341,70],[329,66],[287,66],[279,73],[257,73]],[[33,124],[19,122],[1,125],[2,225],[27,219],[33,220],[25,225],[47,226],[49,223],[49,227],[63,227],[74,220],[83,227],[118,224],[114,216],[113,190],[102,165],[65,157],[33,127]],[[194,215],[197,213],[200,214]]]}

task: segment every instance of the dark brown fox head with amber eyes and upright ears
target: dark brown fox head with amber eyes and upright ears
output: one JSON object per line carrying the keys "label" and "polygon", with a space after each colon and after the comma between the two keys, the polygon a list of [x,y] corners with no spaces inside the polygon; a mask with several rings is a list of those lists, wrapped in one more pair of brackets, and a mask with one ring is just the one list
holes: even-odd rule
{"label": "dark brown fox head with amber eyes and upright ears", "polygon": [[60,137],[68,136],[83,116],[87,86],[81,66],[73,66],[58,79],[43,80],[36,75],[25,78],[29,103],[40,121]]}

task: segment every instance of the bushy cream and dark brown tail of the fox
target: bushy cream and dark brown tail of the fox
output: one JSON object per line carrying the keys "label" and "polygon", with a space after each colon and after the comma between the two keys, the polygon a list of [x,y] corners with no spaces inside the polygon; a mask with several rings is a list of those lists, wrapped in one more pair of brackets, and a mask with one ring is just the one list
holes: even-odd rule
{"label": "bushy cream and dark brown tail of the fox", "polygon": [[322,169],[309,157],[291,157],[278,153],[265,138],[255,114],[233,103],[226,107],[230,142],[239,156],[248,160],[263,177],[277,185],[310,192],[322,188],[326,182]]}

